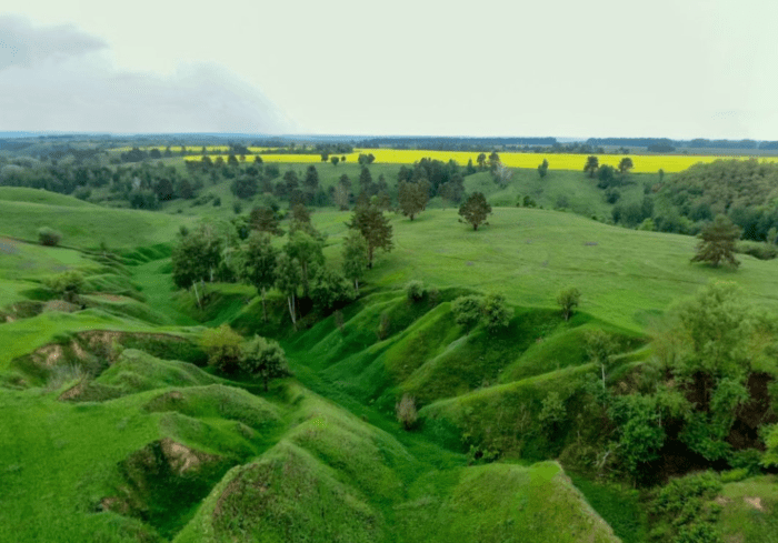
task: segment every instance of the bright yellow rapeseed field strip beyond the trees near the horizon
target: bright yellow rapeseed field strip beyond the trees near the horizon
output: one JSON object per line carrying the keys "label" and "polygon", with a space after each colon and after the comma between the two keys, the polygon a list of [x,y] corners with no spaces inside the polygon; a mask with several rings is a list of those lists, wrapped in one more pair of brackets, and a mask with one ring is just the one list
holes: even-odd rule
{"label": "bright yellow rapeseed field strip beyond the trees near the horizon", "polygon": [[[189,148],[196,149],[196,148]],[[212,148],[208,148],[212,149]],[[225,148],[226,150],[227,148]],[[321,162],[319,154],[263,154],[266,148],[249,148],[252,152],[261,154],[265,162],[293,162],[293,163],[317,163]],[[473,164],[478,163],[478,152],[460,152],[460,151],[423,151],[423,150],[396,150],[396,149],[356,149],[355,152],[346,154],[347,162],[355,163],[359,153],[372,153],[376,157],[377,163],[385,164],[412,164],[421,159],[429,158],[448,162],[449,160],[457,161],[460,165],[467,164],[468,160],[472,160]],[[485,153],[487,157],[489,153]],[[550,170],[584,170],[587,154],[556,154],[556,153],[499,153],[501,162],[508,168],[530,168],[535,169],[543,161],[548,160]],[[342,157],[342,154],[338,154]],[[665,170],[666,173],[680,172],[698,162],[712,162],[719,159],[738,159],[747,160],[751,157],[736,155],[687,155],[687,154],[597,154],[600,165],[609,164],[618,167],[621,159],[629,157],[632,159],[632,171],[636,173],[656,173]],[[200,157],[190,155],[187,160],[200,160]],[[253,161],[252,157],[246,157],[247,161]],[[765,157],[758,160],[769,162],[778,162],[778,157]]]}

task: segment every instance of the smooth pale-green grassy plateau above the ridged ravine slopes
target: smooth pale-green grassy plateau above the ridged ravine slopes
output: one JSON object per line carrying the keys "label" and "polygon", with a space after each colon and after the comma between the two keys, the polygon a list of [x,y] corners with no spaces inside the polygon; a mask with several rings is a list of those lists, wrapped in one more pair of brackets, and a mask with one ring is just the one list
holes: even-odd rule
{"label": "smooth pale-green grassy plateau above the ridged ravine slopes", "polygon": [[[391,217],[391,215],[390,215]],[[348,212],[320,212],[331,228],[326,254],[337,261]],[[552,308],[556,293],[578,286],[581,309],[636,331],[709,281],[735,281],[754,303],[778,306],[778,261],[744,255],[737,272],[690,264],[695,238],[609,227],[571,213],[495,208],[490,225],[473,232],[457,212],[428,210],[413,222],[391,218],[395,249],[378,253],[367,282],[397,286],[420,279],[438,288],[466,284],[501,292],[522,305]]]}

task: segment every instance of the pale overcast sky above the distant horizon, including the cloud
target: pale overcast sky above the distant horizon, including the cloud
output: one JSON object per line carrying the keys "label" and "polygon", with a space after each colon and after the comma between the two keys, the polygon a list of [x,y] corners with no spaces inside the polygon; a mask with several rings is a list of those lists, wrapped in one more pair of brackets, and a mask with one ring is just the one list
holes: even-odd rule
{"label": "pale overcast sky above the distant horizon, including the cloud", "polygon": [[778,140],[774,1],[0,10],[0,131]]}

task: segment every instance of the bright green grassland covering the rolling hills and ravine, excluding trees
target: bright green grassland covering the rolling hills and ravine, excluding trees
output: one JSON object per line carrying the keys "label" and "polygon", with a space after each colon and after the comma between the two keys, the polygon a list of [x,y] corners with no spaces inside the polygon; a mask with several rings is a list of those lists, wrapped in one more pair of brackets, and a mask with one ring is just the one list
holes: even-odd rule
{"label": "bright green grassland covering the rolling hills and ravine, excluding trees", "polygon": [[[398,170],[371,167],[392,190]],[[320,183],[343,173],[358,185],[349,163],[321,164]],[[621,201],[656,181],[631,178]],[[228,182],[203,188],[219,207],[158,212],[0,188],[0,541],[657,541],[656,490],[573,462],[602,430],[580,414],[600,375],[587,336],[619,344],[602,386],[641,392],[677,301],[734,281],[775,313],[778,261],[691,264],[692,237],[602,222],[612,205],[581,172],[515,170],[505,188],[477,173],[465,187],[487,194],[488,225],[473,231],[440,200],[413,221],[389,213],[393,249],[377,253],[360,296],[299,332],[275,290],[263,322],[249,285],[209,283],[205,308],[173,285],[180,228],[236,215]],[[543,209],[516,207],[527,195]],[[312,213],[332,267],[350,219]],[[61,247],[38,244],[43,227]],[[83,274],[79,304],[48,286],[66,271]],[[569,321],[556,304],[566,286],[582,293]],[[505,329],[455,322],[453,300],[472,293],[506,296]],[[278,339],[291,375],[265,392],[218,374],[199,339],[222,323]],[[405,394],[419,409],[410,431],[396,416]],[[551,394],[568,415],[547,423]],[[774,541],[775,476],[736,472],[705,505],[720,510],[722,541]]]}

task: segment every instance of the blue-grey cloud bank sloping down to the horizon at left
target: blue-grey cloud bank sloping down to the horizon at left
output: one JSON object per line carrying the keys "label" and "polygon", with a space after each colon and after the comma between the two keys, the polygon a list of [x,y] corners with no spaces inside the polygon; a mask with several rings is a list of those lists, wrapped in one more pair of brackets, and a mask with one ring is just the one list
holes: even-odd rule
{"label": "blue-grey cloud bank sloping down to the horizon at left", "polygon": [[216,63],[126,71],[71,26],[0,18],[0,130],[279,133],[297,127]]}

